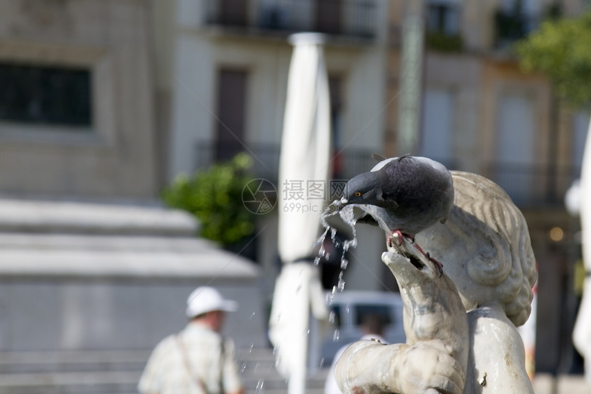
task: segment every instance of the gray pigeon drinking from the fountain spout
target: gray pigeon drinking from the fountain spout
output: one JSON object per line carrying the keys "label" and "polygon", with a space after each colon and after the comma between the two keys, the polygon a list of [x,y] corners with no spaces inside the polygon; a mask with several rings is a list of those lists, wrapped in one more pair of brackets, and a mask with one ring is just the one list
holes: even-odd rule
{"label": "gray pigeon drinking from the fountain spout", "polygon": [[[445,222],[454,205],[454,185],[443,164],[427,157],[404,155],[381,160],[368,173],[351,178],[340,204],[359,205],[388,233],[388,245],[396,234],[414,243],[414,235],[437,221]],[[364,220],[359,220],[363,222]],[[443,272],[441,263],[423,252]]]}

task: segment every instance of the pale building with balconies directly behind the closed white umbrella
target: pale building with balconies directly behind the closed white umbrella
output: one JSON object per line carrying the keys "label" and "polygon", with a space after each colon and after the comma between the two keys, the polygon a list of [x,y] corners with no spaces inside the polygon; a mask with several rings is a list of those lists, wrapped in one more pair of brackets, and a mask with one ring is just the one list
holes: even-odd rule
{"label": "pale building with balconies directly behind the closed white umbrella", "polygon": [[[327,38],[333,177],[373,165],[387,110],[387,1],[180,0],[168,14],[174,48],[169,180],[245,151],[254,157],[256,176],[276,184],[292,51],[287,36],[306,30]],[[289,202],[306,204],[279,199],[277,209]],[[258,237],[258,261],[270,297],[278,273],[277,216],[261,215],[259,226],[266,229]],[[379,270],[381,234],[372,234],[360,253]],[[359,277],[368,278],[357,266]],[[373,279],[358,285],[380,286]]]}

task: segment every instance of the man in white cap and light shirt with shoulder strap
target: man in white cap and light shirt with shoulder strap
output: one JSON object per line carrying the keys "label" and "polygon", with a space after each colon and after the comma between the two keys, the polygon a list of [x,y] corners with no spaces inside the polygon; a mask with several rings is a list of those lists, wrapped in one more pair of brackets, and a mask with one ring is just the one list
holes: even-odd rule
{"label": "man in white cap and light shirt with shoulder strap", "polygon": [[187,298],[188,325],[157,344],[137,385],[140,393],[245,393],[234,342],[221,336],[225,312],[237,309],[213,287],[194,289]]}

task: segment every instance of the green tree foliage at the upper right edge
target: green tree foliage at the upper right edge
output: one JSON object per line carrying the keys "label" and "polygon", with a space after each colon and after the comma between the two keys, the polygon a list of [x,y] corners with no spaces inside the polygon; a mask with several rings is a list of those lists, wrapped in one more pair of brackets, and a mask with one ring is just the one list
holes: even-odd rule
{"label": "green tree foliage at the upper right edge", "polygon": [[525,72],[546,74],[557,96],[570,105],[591,102],[591,11],[544,21],[515,51]]}

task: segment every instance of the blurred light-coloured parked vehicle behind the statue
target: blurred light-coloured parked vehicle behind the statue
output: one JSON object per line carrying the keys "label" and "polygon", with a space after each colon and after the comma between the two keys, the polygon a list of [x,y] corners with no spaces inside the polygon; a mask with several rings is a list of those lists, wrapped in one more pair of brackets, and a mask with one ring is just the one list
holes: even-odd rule
{"label": "blurred light-coloured parked vehicle behind the statue", "polygon": [[318,351],[311,351],[315,365],[330,366],[335,353],[344,345],[359,340],[364,333],[359,327],[366,314],[379,314],[386,322],[384,337],[388,343],[404,343],[403,305],[400,294],[392,292],[337,292],[326,296],[331,311],[333,330],[320,338]]}

